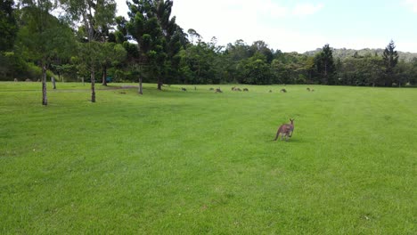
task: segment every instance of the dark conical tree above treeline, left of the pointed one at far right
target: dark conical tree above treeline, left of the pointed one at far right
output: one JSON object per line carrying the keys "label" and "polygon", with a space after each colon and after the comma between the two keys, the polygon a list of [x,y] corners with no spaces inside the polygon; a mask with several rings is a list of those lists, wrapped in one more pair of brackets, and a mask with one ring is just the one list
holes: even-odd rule
{"label": "dark conical tree above treeline, left of the pointed one at far right", "polygon": [[329,45],[324,45],[322,52],[315,55],[315,66],[323,85],[334,85],[333,73],[335,70],[333,54]]}

